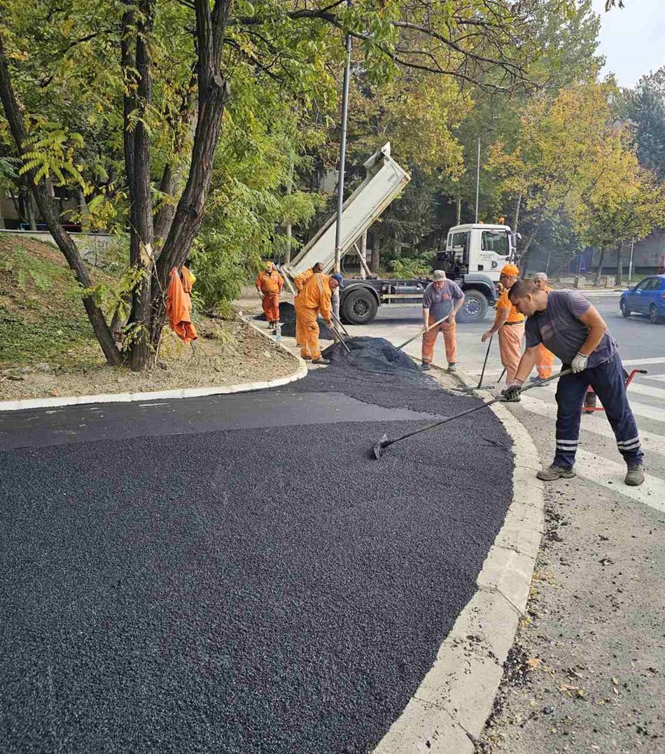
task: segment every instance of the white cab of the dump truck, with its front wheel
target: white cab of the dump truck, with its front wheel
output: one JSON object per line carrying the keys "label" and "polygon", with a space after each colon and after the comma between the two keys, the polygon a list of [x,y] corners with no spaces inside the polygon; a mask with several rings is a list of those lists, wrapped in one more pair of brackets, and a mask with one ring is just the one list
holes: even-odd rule
{"label": "white cab of the dump truck, with its front wheel", "polygon": [[468,223],[448,231],[445,251],[436,255],[435,268],[444,270],[466,296],[457,319],[478,322],[496,301],[499,271],[516,256],[516,234],[508,225]]}

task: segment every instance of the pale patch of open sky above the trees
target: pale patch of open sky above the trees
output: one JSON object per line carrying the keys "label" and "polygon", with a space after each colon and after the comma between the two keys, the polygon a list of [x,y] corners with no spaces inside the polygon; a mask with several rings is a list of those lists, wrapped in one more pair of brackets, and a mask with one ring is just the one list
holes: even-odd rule
{"label": "pale patch of open sky above the trees", "polygon": [[665,0],[623,0],[625,8],[605,13],[605,0],[593,0],[600,14],[599,52],[607,63],[603,75],[614,73],[622,87],[665,66]]}

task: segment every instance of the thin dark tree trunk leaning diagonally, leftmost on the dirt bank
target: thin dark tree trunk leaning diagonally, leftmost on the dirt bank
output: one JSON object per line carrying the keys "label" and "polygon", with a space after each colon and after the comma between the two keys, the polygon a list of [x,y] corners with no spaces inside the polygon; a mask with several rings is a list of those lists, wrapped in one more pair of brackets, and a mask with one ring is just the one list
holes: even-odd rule
{"label": "thin dark tree trunk leaning diagonally, leftmost on the dirt bank", "polygon": [[[2,99],[5,117],[7,118],[14,143],[16,144],[17,152],[19,155],[23,155],[23,144],[26,141],[25,124],[23,124],[23,118],[21,117],[14,94],[14,87],[11,85],[2,35],[0,35],[0,99]],[[57,247],[63,253],[69,268],[74,273],[74,277],[82,288],[90,288],[91,280],[88,277],[88,271],[85,269],[82,256],[72,238],[61,225],[60,218],[51,204],[51,198],[48,196],[44,182],[35,183],[34,170],[26,172],[26,180],[32,190],[32,195],[35,198],[39,212],[42,213],[42,217],[49,231],[51,231]],[[111,331],[106,324],[101,309],[95,304],[92,296],[84,296],[83,305],[106,360],[114,366],[121,364],[122,356],[115,342],[113,342]]]}

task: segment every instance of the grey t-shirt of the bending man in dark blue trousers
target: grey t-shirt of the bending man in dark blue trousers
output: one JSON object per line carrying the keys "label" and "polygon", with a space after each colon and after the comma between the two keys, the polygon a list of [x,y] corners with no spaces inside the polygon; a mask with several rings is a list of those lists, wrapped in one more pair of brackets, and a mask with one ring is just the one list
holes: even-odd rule
{"label": "grey t-shirt of the bending man in dark blue trousers", "polygon": [[[545,348],[569,364],[589,335],[589,327],[579,317],[591,304],[578,290],[550,290],[547,307],[526,320],[526,347],[543,343]],[[598,366],[609,361],[618,351],[617,342],[605,332],[586,366]]]}

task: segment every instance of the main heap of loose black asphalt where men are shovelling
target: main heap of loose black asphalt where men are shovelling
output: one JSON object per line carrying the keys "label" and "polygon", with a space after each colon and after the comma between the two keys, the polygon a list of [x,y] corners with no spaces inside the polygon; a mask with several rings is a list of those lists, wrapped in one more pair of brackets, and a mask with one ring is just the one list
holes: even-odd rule
{"label": "main heap of loose black asphalt where men are shovelling", "polygon": [[323,355],[333,366],[343,369],[359,369],[376,375],[394,375],[409,382],[419,382],[428,387],[436,387],[436,381],[423,374],[420,367],[404,351],[383,338],[346,339],[349,351],[341,343],[328,346]]}

